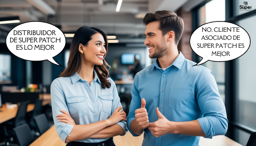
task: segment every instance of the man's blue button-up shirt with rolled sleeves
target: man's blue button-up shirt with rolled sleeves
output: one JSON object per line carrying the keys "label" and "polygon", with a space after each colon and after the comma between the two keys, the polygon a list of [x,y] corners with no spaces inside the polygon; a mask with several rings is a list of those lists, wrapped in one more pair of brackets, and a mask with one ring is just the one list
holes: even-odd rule
{"label": "man's blue button-up shirt with rolled sleeves", "polygon": [[[227,130],[225,105],[218,92],[212,72],[195,62],[185,59],[181,52],[173,64],[163,71],[156,60],[154,64],[136,74],[132,85],[132,101],[127,116],[130,129],[135,119],[135,110],[146,100],[149,122],[158,119],[155,109],[169,121],[198,120],[205,138],[224,135]],[[181,134],[165,134],[154,137],[144,129],[143,146],[198,146],[200,137]]]}

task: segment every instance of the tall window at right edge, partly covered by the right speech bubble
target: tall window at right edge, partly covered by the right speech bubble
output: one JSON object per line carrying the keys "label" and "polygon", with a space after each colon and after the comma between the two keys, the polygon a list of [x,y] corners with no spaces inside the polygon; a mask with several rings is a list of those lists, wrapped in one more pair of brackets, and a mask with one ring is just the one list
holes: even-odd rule
{"label": "tall window at right edge, partly covered by the right speech bubble", "polygon": [[[248,23],[249,22],[249,23]],[[242,19],[237,24],[243,27],[251,37],[251,46],[248,51],[238,58],[238,98],[237,98],[237,113],[236,121],[244,123],[248,126],[256,127],[256,115],[252,114],[252,111],[256,110],[256,30],[251,24],[256,23],[256,15]],[[238,138],[242,145],[246,145],[247,141],[242,141],[241,137],[246,136],[246,140],[249,139],[249,134],[245,132],[238,132]]]}

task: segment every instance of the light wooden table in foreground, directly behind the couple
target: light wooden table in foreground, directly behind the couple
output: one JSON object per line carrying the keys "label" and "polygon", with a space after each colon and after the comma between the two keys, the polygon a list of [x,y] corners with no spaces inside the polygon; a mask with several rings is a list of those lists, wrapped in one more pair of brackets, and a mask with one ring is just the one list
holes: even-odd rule
{"label": "light wooden table in foreground, directly behind the couple", "polygon": [[[133,137],[128,131],[125,136],[116,136],[113,139],[116,146],[141,146],[143,134],[139,137]],[[44,134],[37,138],[30,146],[65,146],[61,141],[53,125]],[[200,137],[199,146],[242,146],[225,135],[212,137],[212,139]]]}

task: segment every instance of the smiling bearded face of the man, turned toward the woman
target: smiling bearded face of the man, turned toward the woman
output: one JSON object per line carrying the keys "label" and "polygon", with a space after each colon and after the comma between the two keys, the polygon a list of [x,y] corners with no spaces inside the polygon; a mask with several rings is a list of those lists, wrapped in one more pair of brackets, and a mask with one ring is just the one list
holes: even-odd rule
{"label": "smiling bearded face of the man, turned toward the woman", "polygon": [[167,45],[165,36],[162,36],[162,31],[159,30],[159,22],[154,21],[147,24],[146,40],[144,42],[148,47],[150,58],[161,58],[166,54]]}

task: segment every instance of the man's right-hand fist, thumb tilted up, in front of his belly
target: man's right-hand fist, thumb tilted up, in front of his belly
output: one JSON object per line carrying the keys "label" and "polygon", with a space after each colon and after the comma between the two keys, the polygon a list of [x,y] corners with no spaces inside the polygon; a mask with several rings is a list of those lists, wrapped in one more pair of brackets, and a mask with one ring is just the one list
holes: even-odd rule
{"label": "man's right-hand fist, thumb tilted up, in front of his belly", "polygon": [[157,113],[157,116],[159,117],[156,122],[148,123],[151,134],[153,134],[155,137],[161,137],[162,135],[165,135],[167,133],[174,133],[174,123],[172,124],[172,121],[169,121],[159,112],[157,108],[155,112]]}

